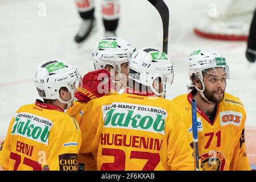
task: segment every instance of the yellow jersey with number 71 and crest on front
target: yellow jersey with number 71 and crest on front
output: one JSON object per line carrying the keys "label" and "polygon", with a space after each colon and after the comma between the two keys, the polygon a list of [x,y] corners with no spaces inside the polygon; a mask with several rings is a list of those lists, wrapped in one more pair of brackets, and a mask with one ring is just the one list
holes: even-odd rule
{"label": "yellow jersey with number 71 and crest on front", "polygon": [[[174,98],[177,105],[191,115],[192,94]],[[245,150],[246,113],[242,102],[225,93],[222,102],[217,104],[213,123],[197,107],[197,130],[201,169],[205,171],[250,170]],[[187,132],[192,134],[192,119]]]}

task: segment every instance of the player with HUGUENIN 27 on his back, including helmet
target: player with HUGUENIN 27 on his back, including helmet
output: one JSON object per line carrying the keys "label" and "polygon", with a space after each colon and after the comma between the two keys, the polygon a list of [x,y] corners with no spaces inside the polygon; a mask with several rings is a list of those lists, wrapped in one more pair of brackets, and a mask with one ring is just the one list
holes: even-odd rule
{"label": "player with HUGUENIN 27 on his back, including helmet", "polygon": [[[193,170],[185,112],[161,96],[173,64],[154,48],[134,52],[126,93],[89,101],[81,153],[97,151],[98,170]],[[185,114],[183,114],[185,113]]]}

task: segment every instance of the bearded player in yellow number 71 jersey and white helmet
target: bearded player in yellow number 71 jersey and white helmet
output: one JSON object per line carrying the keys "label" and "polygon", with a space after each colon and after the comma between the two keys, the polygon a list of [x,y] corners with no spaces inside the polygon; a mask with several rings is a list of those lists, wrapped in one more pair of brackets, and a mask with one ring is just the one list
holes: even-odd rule
{"label": "bearded player in yellow number 71 jersey and white helmet", "polygon": [[[188,62],[190,93],[174,102],[191,114],[197,101],[197,129],[201,169],[205,171],[250,170],[245,150],[246,112],[238,97],[225,93],[229,67],[214,50],[197,50]],[[187,131],[192,132],[192,122]]]}

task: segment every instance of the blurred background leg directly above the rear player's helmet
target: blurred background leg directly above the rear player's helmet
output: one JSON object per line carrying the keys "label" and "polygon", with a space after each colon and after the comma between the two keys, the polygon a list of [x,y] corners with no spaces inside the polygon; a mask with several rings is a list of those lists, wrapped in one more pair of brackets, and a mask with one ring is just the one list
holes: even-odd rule
{"label": "blurred background leg directly above the rear player's helmet", "polygon": [[119,0],[102,0],[102,18],[105,27],[105,37],[117,36],[116,30],[119,20]]}

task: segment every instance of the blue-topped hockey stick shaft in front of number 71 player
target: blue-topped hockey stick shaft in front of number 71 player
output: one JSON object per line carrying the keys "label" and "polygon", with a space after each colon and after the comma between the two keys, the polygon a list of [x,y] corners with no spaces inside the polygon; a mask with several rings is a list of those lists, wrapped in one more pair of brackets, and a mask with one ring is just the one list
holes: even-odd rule
{"label": "blue-topped hockey stick shaft in front of number 71 player", "polygon": [[199,171],[196,100],[192,99],[191,107],[192,107],[192,133],[193,133],[194,166],[195,166],[195,171]]}

